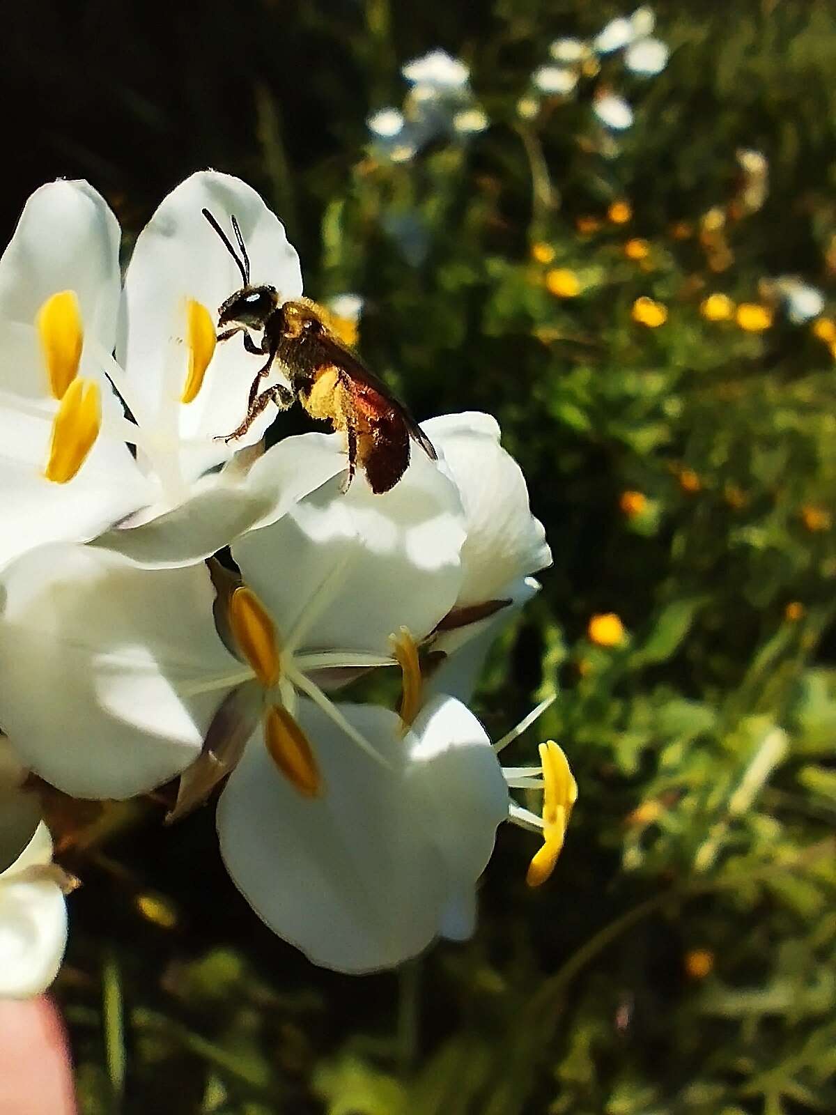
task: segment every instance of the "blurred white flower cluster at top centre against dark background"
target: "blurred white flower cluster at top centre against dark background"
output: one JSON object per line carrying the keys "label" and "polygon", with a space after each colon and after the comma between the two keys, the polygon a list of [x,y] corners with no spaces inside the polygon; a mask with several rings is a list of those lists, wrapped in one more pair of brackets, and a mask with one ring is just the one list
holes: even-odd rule
{"label": "blurred white flower cluster at top centre against dark background", "polygon": [[464,139],[488,126],[470,89],[470,71],[446,50],[431,50],[401,67],[409,91],[401,108],[380,108],[367,120],[372,149],[407,163],[439,136]]}

